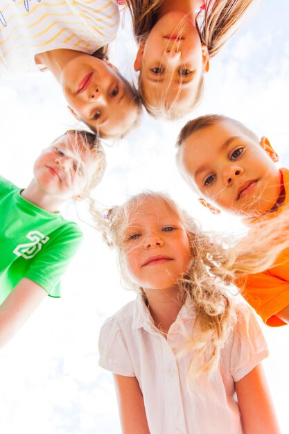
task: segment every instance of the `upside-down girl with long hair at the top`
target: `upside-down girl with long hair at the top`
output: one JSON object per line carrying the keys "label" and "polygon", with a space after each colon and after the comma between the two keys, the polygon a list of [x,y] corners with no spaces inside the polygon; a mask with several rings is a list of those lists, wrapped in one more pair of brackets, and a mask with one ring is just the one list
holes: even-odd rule
{"label": "upside-down girl with long hair at the top", "polygon": [[179,119],[199,103],[209,60],[240,27],[253,0],[126,1],[146,110],[156,118]]}

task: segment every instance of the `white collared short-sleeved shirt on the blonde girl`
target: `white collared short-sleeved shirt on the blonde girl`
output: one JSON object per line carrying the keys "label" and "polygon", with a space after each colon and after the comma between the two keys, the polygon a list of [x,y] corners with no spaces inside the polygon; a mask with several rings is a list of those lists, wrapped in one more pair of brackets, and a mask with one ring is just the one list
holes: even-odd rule
{"label": "white collared short-sleeved shirt on the blonde girl", "polygon": [[268,356],[268,348],[254,311],[242,303],[237,316],[216,372],[202,378],[202,396],[191,394],[186,382],[191,354],[179,359],[173,350],[182,341],[180,327],[190,331],[195,321],[186,304],[167,340],[140,295],[103,324],[99,365],[114,374],[137,377],[150,434],[243,432],[234,383]]}

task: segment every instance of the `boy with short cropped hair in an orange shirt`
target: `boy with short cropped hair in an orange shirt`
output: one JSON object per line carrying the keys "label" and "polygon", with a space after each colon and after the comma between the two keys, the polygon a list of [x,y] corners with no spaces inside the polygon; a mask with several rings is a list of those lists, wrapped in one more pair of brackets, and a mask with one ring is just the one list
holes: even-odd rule
{"label": "boy with short cropped hair in an orange shirt", "polygon": [[[235,119],[208,115],[189,121],[177,144],[179,169],[203,205],[245,217],[256,232],[288,228],[289,171],[277,168],[279,157],[266,137],[259,141]],[[279,243],[284,238],[281,234]],[[288,249],[277,264],[238,283],[247,302],[272,327],[289,322]]]}

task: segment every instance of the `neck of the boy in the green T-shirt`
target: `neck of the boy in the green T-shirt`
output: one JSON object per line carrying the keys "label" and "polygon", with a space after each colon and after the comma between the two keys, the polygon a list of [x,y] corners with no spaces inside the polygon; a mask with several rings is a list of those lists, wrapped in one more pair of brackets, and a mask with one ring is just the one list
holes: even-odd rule
{"label": "neck of the boy in the green T-shirt", "polygon": [[60,198],[55,198],[42,191],[34,180],[30,182],[26,189],[21,191],[21,196],[28,202],[33,203],[33,205],[52,213],[58,212],[59,207],[63,204],[63,200]]}

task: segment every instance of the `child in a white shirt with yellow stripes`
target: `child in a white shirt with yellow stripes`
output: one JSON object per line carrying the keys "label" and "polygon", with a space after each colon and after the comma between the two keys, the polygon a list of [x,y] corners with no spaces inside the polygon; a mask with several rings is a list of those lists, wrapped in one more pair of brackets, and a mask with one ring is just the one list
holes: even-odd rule
{"label": "child in a white shirt with yellow stripes", "polygon": [[116,0],[0,0],[0,75],[49,69],[76,119],[102,137],[123,137],[141,103],[107,60],[118,27]]}

